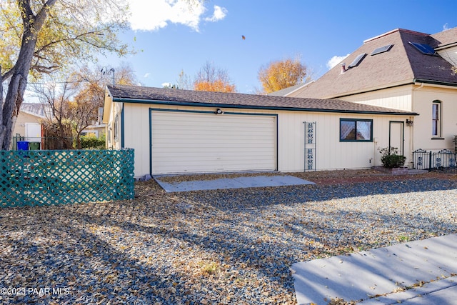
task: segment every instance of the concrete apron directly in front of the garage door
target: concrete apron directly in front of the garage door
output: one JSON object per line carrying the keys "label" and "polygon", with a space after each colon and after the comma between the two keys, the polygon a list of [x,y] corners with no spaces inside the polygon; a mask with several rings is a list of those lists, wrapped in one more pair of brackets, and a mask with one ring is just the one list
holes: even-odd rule
{"label": "concrete apron directly in front of the garage door", "polygon": [[162,181],[161,179],[164,177],[169,176],[154,176],[154,179],[166,192],[314,184],[311,181],[306,181],[294,176],[286,175],[263,176],[262,174],[258,174],[258,176],[241,176],[234,178],[183,181],[174,183]]}

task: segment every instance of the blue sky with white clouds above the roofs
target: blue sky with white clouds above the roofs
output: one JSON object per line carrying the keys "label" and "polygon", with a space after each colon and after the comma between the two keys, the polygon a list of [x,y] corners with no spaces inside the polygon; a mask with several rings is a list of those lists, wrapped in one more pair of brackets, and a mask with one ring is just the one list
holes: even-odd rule
{"label": "blue sky with white clouds above the roofs", "polygon": [[121,39],[137,53],[101,64],[129,63],[143,86],[156,87],[176,84],[181,70],[193,78],[210,61],[226,69],[238,92],[255,93],[258,70],[270,61],[300,56],[317,79],[334,56],[373,36],[457,26],[457,0],[191,0],[191,11],[182,0],[129,1],[132,29]]}

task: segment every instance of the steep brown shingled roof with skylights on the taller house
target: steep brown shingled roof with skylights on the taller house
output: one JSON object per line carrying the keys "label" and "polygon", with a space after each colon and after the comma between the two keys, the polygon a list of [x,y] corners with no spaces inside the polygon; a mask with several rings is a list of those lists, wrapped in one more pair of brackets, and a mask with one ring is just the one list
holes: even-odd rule
{"label": "steep brown shingled roof with skylights on the taller house", "polygon": [[[331,99],[398,84],[412,84],[414,80],[457,86],[452,64],[441,56],[422,54],[409,43],[442,46],[457,41],[456,35],[456,29],[434,35],[396,29],[376,36],[364,41],[360,48],[344,59],[347,69],[356,56],[366,53],[358,66],[347,69],[343,74],[341,66],[335,66],[320,79],[288,96]],[[374,49],[389,44],[393,44],[389,51],[371,56]]]}

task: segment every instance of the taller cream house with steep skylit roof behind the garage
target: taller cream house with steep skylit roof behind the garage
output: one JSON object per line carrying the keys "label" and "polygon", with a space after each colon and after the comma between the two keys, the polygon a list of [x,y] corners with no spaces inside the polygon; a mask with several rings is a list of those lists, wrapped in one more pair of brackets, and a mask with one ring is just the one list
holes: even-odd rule
{"label": "taller cream house with steep skylit roof behind the garage", "polygon": [[[396,29],[363,45],[320,79],[283,96],[343,99],[419,114],[395,119],[391,139],[413,167],[417,149],[454,150],[457,135],[457,28],[429,35]],[[281,92],[279,92],[281,94]]]}

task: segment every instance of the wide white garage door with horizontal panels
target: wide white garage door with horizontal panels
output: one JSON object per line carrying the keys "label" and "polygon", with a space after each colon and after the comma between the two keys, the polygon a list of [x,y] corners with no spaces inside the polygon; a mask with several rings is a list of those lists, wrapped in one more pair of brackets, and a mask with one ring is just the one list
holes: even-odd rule
{"label": "wide white garage door with horizontal panels", "polygon": [[276,169],[276,116],[151,111],[152,174]]}

